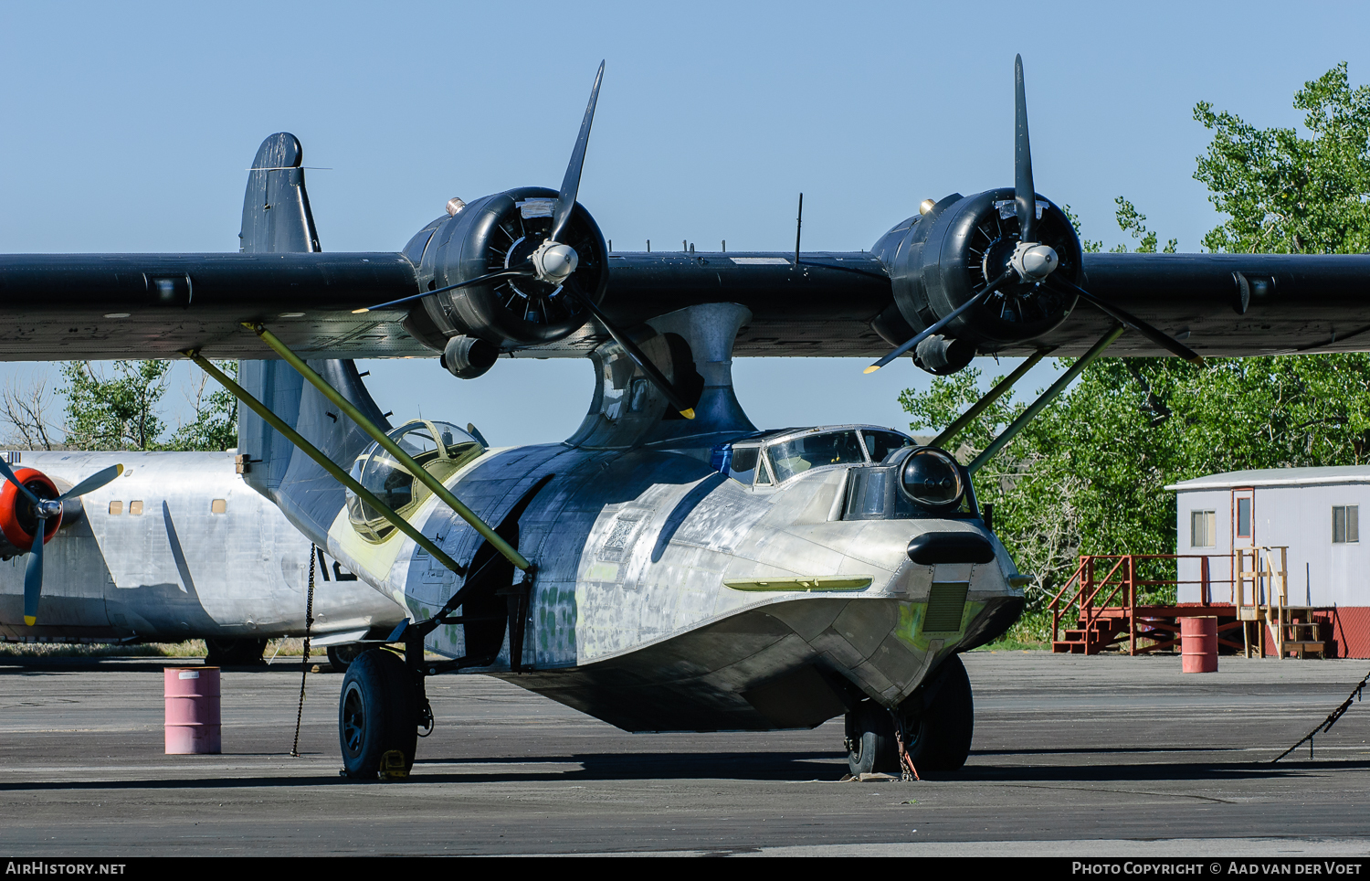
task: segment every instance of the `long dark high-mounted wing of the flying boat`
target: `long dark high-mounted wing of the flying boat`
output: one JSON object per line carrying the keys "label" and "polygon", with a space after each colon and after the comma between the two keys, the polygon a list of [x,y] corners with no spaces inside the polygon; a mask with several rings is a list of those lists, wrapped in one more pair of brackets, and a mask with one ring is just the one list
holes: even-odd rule
{"label": "long dark high-mounted wing of the flying boat", "polygon": [[[1370,348],[1370,255],[1091,253],[1082,269],[1093,293],[1200,355]],[[436,356],[406,326],[425,307],[353,314],[421,290],[419,270],[393,252],[4,255],[0,359],[175,358],[186,348],[270,356],[242,322],[263,322],[311,358]],[[806,252],[797,267],[792,252],[610,255],[601,308],[622,326],[719,301],[752,311],[737,356],[869,358],[889,348],[873,322],[895,304],[891,270],[869,252]],[[981,344],[981,353],[1049,345],[1080,355],[1111,323],[1080,303],[1049,333]],[[577,356],[607,338],[590,321],[514,353]],[[1167,353],[1136,333],[1111,352]]]}

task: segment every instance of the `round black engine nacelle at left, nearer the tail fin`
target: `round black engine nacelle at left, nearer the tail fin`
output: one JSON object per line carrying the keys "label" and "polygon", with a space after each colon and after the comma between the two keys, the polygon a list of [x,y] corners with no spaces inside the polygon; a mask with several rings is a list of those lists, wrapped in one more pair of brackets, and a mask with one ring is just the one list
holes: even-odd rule
{"label": "round black engine nacelle at left, nearer the tail fin", "polygon": [[[551,232],[556,196],[552,189],[525,186],[469,204],[453,199],[451,216],[429,223],[404,248],[419,269],[419,284],[436,290],[523,264]],[[574,285],[597,304],[608,285],[608,247],[578,203],[558,238],[577,256],[574,271],[562,284],[514,277],[447,290],[421,300],[406,329],[438,352],[460,336],[500,351],[566,338],[590,314],[564,288]]]}

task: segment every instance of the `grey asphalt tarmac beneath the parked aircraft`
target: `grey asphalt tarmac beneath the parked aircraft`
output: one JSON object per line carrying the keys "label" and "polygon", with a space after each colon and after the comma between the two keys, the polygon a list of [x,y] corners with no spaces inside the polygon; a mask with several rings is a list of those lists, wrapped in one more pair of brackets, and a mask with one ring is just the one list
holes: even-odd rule
{"label": "grey asphalt tarmac beneath the parked aircraft", "polygon": [[[408,782],[338,777],[341,675],[223,673],[223,755],[163,755],[162,666],[0,659],[0,852],[34,856],[1370,854],[1370,706],[1271,765],[1366,660],[974,652],[966,769],[838,782],[841,721],[627,734],[485,677],[430,680]],[[326,667],[325,667],[326,669]]]}

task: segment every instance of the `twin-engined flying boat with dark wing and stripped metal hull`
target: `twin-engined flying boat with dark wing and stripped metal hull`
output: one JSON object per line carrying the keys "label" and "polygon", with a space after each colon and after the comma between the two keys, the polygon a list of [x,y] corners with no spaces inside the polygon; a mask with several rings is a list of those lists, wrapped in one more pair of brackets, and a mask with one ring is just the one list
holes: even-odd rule
{"label": "twin-engined flying boat with dark wing and stripped metal hull", "polygon": [[[196,360],[241,401],[248,484],[410,610],[384,640],[399,651],[344,680],[351,775],[407,773],[433,723],[425,680],[451,671],[634,732],[845,715],[854,773],[956,769],[974,725],[958,655],[1012,625],[1026,582],[975,469],[1106,349],[1199,362],[1370,338],[1370,256],[1084,253],[1034,188],[1021,59],[1010,188],[929,199],[856,253],[611,252],[577,201],[603,70],[559,189],[452,199],[399,252],[321,252],[282,133],[249,173],[241,253],[0,258],[0,358]],[[1023,419],[974,462],[947,452],[1048,353],[1077,360]],[[464,380],[501,356],[589,358],[589,412],[533,447],[390,426],[349,360],[434,355]],[[923,445],[758,429],[730,373],[756,355],[1028,362]],[[237,380],[210,358],[242,359]],[[26,485],[7,534],[60,508]]]}

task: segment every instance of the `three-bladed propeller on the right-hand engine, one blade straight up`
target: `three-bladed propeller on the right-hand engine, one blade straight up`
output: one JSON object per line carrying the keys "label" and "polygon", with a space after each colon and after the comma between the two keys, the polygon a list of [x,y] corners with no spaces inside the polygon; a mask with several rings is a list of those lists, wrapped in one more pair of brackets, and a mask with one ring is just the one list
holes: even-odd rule
{"label": "three-bladed propeller on the right-hand engine, one blade straight up", "polygon": [[[1080,297],[1123,326],[1141,333],[1144,337],[1166,351],[1188,360],[1189,363],[1203,364],[1203,358],[1199,353],[1174,337],[1166,334],[1136,315],[1118,308],[1107,300],[1089,293],[1084,288],[1071,282],[1069,278],[1052,275],[1060,264],[1060,258],[1051,245],[1037,241],[1037,193],[1032,179],[1032,144],[1028,137],[1028,93],[1023,86],[1022,55],[1014,58],[1014,206],[1018,215],[1019,233],[1018,243],[1014,245],[1012,253],[1008,255],[1007,269],[989,282],[985,289],[958,306],[947,317],[941,318],[930,327],[919,332],[911,340],[897,347],[870,367],[866,367],[866,373],[875,373],[889,362],[922,343],[925,338],[941,330],[958,315],[969,311],[977,303],[982,303],[985,297],[993,293],[995,289],[1015,280],[1015,277],[1017,281],[1021,282],[1044,284],[1060,293]],[[989,266],[986,258],[986,273],[988,271]]]}

